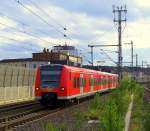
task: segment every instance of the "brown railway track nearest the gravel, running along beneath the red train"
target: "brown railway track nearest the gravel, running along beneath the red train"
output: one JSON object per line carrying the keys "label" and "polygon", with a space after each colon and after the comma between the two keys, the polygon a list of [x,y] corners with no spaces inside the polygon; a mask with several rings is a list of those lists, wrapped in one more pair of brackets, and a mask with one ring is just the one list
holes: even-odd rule
{"label": "brown railway track nearest the gravel, running along beneath the red train", "polygon": [[[102,96],[107,95],[107,93],[104,93]],[[90,99],[88,99],[89,101]],[[61,107],[57,107],[57,108],[44,108],[42,106],[35,106],[34,108],[30,108],[30,110],[24,111],[24,112],[20,112],[20,113],[15,113],[15,114],[7,114],[3,115],[3,117],[0,118],[0,131],[11,131],[12,129],[14,129],[15,127],[19,126],[19,125],[24,125],[26,123],[29,122],[33,122],[35,120],[41,119],[45,116],[48,115],[52,115],[54,113],[60,113],[63,111],[65,111],[67,108],[77,108],[78,105],[83,104],[85,101],[87,101],[86,99],[81,100],[81,103],[78,104],[73,103],[70,104],[69,106],[61,106]],[[22,107],[22,106],[21,106]]]}

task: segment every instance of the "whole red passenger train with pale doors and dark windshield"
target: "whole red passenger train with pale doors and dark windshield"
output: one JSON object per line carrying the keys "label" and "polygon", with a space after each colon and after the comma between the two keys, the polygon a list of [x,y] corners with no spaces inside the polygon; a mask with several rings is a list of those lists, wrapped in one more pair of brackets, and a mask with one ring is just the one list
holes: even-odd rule
{"label": "whole red passenger train with pale doors and dark windshield", "polygon": [[35,96],[43,105],[75,100],[116,88],[118,75],[67,65],[42,65],[37,69]]}

